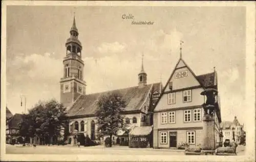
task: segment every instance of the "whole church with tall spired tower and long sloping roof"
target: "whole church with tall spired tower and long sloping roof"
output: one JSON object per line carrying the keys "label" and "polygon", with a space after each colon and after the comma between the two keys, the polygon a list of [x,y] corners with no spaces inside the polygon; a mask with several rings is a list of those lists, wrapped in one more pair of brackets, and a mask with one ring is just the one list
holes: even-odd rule
{"label": "whole church with tall spired tower and long sloping roof", "polygon": [[[138,130],[139,127],[151,127],[148,133],[152,131],[153,125],[153,107],[158,100],[162,84],[147,84],[147,74],[143,67],[143,58],[141,71],[134,78],[138,79],[138,85],[112,91],[104,91],[95,94],[86,94],[86,81],[84,73],[84,62],[82,60],[82,44],[78,40],[78,30],[75,17],[73,26],[70,30],[70,38],[66,42],[66,56],[63,59],[63,77],[60,79],[60,102],[68,108],[70,118],[68,141],[74,144],[75,134],[83,133],[88,135],[91,140],[101,140],[96,137],[96,117],[97,103],[102,95],[108,92],[119,92],[126,101],[124,122],[129,125],[129,129]],[[90,86],[90,85],[88,85]],[[113,137],[115,143],[128,141],[129,134],[120,131]]]}

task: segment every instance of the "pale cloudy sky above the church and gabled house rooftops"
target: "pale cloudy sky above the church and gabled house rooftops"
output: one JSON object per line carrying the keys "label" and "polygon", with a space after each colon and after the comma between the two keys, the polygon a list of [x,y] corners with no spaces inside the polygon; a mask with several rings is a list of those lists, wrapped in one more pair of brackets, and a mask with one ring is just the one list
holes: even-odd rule
{"label": "pale cloudy sky above the church and gabled house rooftops", "polygon": [[138,85],[142,54],[147,83],[165,85],[182,40],[182,58],[196,75],[216,67],[222,120],[236,115],[245,122],[245,7],[8,6],[6,92],[13,114],[25,111],[20,96],[27,109],[59,101],[74,11],[87,94]]}

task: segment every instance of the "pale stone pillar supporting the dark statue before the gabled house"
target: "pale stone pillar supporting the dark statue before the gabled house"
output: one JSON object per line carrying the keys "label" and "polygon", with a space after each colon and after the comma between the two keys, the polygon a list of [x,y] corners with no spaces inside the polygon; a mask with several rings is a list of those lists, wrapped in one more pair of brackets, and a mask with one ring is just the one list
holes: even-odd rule
{"label": "pale stone pillar supporting the dark statue before the gabled house", "polygon": [[202,150],[215,150],[214,117],[205,114],[203,117],[204,139]]}

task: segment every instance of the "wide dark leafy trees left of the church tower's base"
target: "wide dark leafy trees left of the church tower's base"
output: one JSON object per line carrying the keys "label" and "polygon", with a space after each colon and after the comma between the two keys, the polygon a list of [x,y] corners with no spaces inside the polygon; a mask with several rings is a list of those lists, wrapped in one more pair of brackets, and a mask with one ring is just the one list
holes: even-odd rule
{"label": "wide dark leafy trees left of the church tower's base", "polygon": [[19,123],[22,136],[58,136],[68,122],[66,108],[55,100],[39,102],[28,114],[22,115]]}

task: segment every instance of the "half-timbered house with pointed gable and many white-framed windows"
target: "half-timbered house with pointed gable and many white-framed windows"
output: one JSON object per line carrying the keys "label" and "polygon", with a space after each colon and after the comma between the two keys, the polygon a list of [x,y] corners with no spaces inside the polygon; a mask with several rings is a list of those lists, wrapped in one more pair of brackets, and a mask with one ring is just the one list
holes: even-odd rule
{"label": "half-timbered house with pointed gable and many white-framed windows", "polygon": [[[202,104],[205,98],[200,93],[208,87],[218,89],[217,72],[196,76],[180,58],[154,109],[155,148],[177,148],[179,144],[186,142],[193,147],[203,143]],[[220,111],[216,111],[214,115],[217,145],[220,141]]]}

